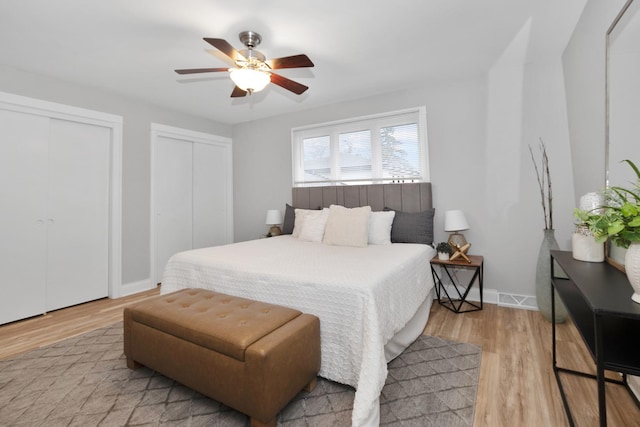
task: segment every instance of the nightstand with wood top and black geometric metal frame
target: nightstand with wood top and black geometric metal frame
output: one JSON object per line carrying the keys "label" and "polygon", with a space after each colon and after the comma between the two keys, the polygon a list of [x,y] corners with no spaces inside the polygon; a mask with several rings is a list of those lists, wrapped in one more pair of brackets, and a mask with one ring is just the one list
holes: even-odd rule
{"label": "nightstand with wood top and black geometric metal frame", "polygon": [[[484,258],[480,255],[468,255],[468,257],[471,262],[467,262],[464,259],[444,261],[438,259],[438,257],[431,260],[431,275],[433,276],[433,282],[436,286],[438,302],[443,307],[446,307],[455,313],[482,310]],[[464,283],[460,283],[460,279],[457,277],[458,270],[471,271],[471,279],[466,285]],[[453,286],[445,286],[442,283],[442,279],[445,277],[449,278],[449,282]],[[478,288],[480,289],[480,305],[475,302],[467,301],[469,291],[475,282],[478,282]],[[463,310],[463,306],[466,307],[466,309]]]}

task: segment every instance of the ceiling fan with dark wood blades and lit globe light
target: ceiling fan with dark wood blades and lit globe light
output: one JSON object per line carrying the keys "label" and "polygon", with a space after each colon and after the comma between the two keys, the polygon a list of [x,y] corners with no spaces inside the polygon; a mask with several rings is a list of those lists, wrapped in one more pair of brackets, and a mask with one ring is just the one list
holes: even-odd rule
{"label": "ceiling fan with dark wood blades and lit globe light", "polygon": [[232,98],[251,95],[261,91],[269,82],[277,84],[297,95],[304,93],[307,86],[274,73],[272,70],[283,68],[313,67],[313,62],[307,55],[293,55],[266,60],[265,56],[254,48],[260,44],[262,37],[254,31],[243,31],[239,34],[240,41],[246,49],[236,50],[224,39],[205,37],[204,41],[227,55],[234,64],[232,68],[191,68],[175,70],[178,74],[216,73],[229,71],[231,80],[235,83]]}

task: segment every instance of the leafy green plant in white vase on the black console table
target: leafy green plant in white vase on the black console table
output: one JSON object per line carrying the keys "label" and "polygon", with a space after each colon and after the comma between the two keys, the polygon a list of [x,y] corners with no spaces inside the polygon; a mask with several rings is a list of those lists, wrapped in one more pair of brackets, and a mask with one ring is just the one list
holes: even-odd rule
{"label": "leafy green plant in white vase on the black console table", "polygon": [[591,211],[575,210],[593,233],[596,242],[608,239],[627,249],[625,271],[635,293],[631,297],[640,303],[640,170],[631,160],[623,160],[635,172],[633,188],[610,187],[604,191],[604,205]]}

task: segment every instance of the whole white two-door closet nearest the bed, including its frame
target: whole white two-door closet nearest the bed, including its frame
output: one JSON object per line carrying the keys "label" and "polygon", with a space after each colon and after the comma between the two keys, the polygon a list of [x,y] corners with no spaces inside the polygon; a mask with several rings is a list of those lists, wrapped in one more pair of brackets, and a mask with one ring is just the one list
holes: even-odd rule
{"label": "whole white two-door closet nearest the bed, including its frame", "polygon": [[231,140],[151,126],[152,280],[177,252],[233,241]]}

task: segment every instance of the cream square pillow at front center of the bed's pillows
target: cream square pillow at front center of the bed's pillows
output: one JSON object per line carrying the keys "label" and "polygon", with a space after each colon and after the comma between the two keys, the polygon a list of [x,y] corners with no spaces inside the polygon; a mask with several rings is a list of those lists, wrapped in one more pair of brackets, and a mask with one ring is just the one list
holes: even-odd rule
{"label": "cream square pillow at front center of the bed's pillows", "polygon": [[323,243],[335,246],[367,246],[371,206],[345,208],[331,205]]}

